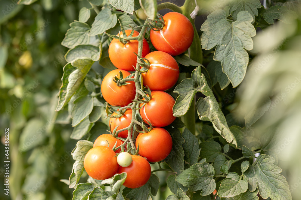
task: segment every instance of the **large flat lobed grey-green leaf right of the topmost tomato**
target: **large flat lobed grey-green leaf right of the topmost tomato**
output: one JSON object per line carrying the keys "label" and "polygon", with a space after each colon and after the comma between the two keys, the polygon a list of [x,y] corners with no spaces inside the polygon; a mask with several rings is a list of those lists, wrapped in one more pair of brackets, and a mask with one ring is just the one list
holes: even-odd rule
{"label": "large flat lobed grey-green leaf right of the topmost tomato", "polygon": [[237,87],[246,74],[249,63],[246,50],[253,49],[251,37],[256,35],[252,21],[253,17],[247,11],[240,11],[237,21],[229,22],[225,10],[216,10],[201,26],[204,31],[202,49],[209,50],[216,46],[214,60],[222,63],[223,72],[233,87]]}

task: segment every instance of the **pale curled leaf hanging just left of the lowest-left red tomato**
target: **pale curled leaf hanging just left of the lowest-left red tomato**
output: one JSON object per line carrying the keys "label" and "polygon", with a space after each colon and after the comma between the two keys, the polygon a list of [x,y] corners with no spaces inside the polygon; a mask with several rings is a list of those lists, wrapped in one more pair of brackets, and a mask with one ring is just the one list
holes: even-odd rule
{"label": "pale curled leaf hanging just left of the lowest-left red tomato", "polygon": [[84,171],[84,158],[86,153],[93,147],[93,142],[87,140],[80,140],[76,143],[76,147],[71,153],[75,163],[73,164],[72,173],[69,178],[69,188],[76,186],[79,178]]}

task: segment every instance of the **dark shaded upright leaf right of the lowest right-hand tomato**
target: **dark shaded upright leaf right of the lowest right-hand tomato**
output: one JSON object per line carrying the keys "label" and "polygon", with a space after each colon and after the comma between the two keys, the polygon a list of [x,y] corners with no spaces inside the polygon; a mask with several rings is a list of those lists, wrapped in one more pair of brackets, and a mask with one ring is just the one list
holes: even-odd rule
{"label": "dark shaded upright leaf right of the lowest right-hand tomato", "polygon": [[183,131],[182,137],[185,142],[182,144],[184,150],[184,169],[197,163],[197,158],[200,155],[199,142],[195,135],[193,135],[187,128]]}

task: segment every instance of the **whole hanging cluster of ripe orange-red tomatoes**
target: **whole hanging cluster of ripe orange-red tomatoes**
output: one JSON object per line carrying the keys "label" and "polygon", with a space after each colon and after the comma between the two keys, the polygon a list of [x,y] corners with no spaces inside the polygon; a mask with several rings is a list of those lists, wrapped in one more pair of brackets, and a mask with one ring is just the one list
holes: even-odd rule
{"label": "whole hanging cluster of ripe orange-red tomatoes", "polygon": [[[164,91],[172,88],[179,77],[179,67],[172,55],[179,55],[189,48],[194,30],[188,18],[180,13],[167,13],[163,19],[165,24],[163,29],[151,30],[150,33],[151,42],[158,51],[150,52],[145,38],[142,48],[142,58],[149,61],[149,69],[142,73],[142,83],[145,87],[150,88],[151,99],[147,103],[140,103],[139,112],[144,123],[154,128],[147,133],[139,133],[136,137],[135,147],[139,146],[139,155],[120,152],[120,148],[114,152],[112,150],[114,145],[118,147],[123,144],[123,141],[111,134],[99,136],[84,159],[85,170],[92,178],[104,180],[111,178],[116,173],[126,172],[127,178],[123,185],[129,188],[141,187],[151,176],[149,162],[162,161],[171,152],[172,138],[162,127],[168,126],[175,120],[172,113],[175,100]],[[185,28],[178,28],[183,25]],[[125,30],[126,35],[128,36],[131,31]],[[137,31],[134,31],[132,37],[136,37],[138,34]],[[120,33],[120,37],[122,36]],[[112,106],[127,106],[135,99],[134,81],[126,81],[126,84],[117,85],[113,79],[114,77],[115,80],[119,79],[120,72],[125,78],[131,75],[129,71],[135,71],[137,56],[134,52],[138,53],[137,40],[121,43],[118,39],[113,39],[110,43],[109,57],[118,69],[110,71],[104,77],[101,92],[107,103]],[[123,116],[110,118],[110,129],[114,130],[118,126],[118,131],[129,127],[132,114],[132,109],[127,109]],[[116,115],[117,113],[114,112],[111,117]],[[118,133],[118,137],[126,138],[127,136],[128,130]]]}

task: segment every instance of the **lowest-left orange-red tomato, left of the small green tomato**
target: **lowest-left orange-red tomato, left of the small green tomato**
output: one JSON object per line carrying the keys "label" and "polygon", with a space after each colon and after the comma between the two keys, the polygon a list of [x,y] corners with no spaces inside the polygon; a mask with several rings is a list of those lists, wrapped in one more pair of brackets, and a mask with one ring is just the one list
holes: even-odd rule
{"label": "lowest-left orange-red tomato, left of the small green tomato", "polygon": [[115,152],[106,146],[97,146],[88,151],[84,158],[84,168],[89,176],[104,180],[114,176],[119,168]]}

